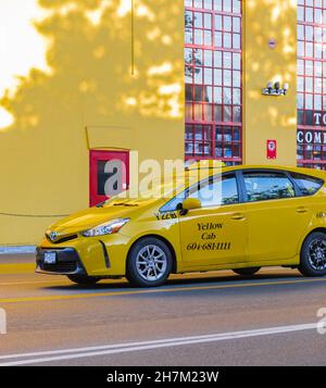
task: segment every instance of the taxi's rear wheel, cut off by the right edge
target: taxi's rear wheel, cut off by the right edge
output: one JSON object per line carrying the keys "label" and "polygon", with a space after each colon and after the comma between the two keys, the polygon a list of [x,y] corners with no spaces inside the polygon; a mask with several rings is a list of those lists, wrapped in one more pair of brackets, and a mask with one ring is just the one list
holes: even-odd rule
{"label": "taxi's rear wheel, cut off by the right edge", "polygon": [[326,276],[326,234],[314,231],[306,237],[298,268],[306,277]]}

